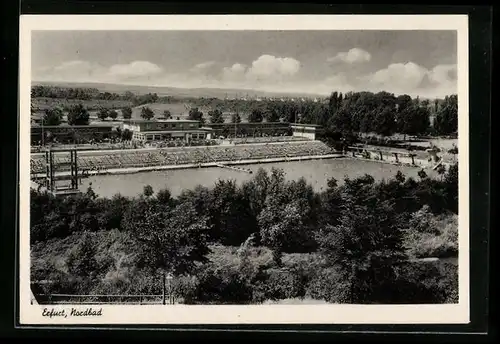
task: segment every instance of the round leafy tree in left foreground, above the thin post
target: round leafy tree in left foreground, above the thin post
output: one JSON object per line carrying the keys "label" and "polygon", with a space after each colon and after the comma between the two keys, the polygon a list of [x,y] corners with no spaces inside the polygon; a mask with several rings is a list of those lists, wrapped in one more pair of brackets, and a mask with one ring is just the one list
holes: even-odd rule
{"label": "round leafy tree in left foreground, above the thin post", "polygon": [[173,209],[151,204],[131,227],[142,265],[176,275],[207,261],[207,229],[207,218],[199,216],[189,203]]}

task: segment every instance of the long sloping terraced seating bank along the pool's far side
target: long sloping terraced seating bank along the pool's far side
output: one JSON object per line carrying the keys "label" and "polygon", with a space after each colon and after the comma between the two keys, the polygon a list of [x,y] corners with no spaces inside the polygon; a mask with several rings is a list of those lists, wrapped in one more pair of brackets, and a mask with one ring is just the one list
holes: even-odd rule
{"label": "long sloping terraced seating bank along the pool's far side", "polygon": [[[200,164],[219,161],[238,161],[248,159],[268,159],[282,157],[299,157],[308,155],[326,155],[333,150],[319,141],[305,141],[291,144],[270,144],[255,146],[212,146],[199,148],[157,149],[150,151],[124,150],[112,154],[95,154],[78,156],[80,169],[107,170],[112,168],[133,168],[147,166]],[[69,156],[54,156],[56,164],[69,163]],[[32,173],[42,173],[44,158],[31,159]],[[69,165],[60,166],[58,170],[69,170]]]}

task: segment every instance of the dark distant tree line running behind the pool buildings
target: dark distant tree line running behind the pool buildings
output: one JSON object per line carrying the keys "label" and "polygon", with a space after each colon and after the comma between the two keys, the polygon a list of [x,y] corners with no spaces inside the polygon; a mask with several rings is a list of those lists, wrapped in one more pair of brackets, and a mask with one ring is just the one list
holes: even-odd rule
{"label": "dark distant tree line running behind the pool buildings", "polygon": [[[83,96],[84,94],[85,96]],[[109,94],[109,95],[108,95]],[[72,89],[46,86],[34,86],[32,97],[53,96],[60,98],[80,97],[79,99],[122,99],[132,101],[134,105],[143,105],[155,102],[186,102],[186,99],[171,96],[159,97],[148,93],[135,95],[132,92],[111,94],[109,92],[96,93],[95,89]],[[409,95],[395,96],[388,92],[348,92],[342,94],[332,92],[326,101],[306,100],[294,102],[291,100],[241,100],[199,98],[189,102],[195,106],[189,111],[189,119],[206,122],[201,107],[211,110],[206,114],[211,123],[223,123],[224,112],[231,114],[231,122],[241,121],[241,114],[246,114],[249,122],[298,122],[317,124],[331,132],[343,134],[375,133],[382,136],[391,136],[394,133],[405,135],[450,135],[458,130],[458,99],[457,95],[446,96],[443,100],[420,100]],[[107,110],[103,110],[102,116]],[[128,117],[128,109],[124,118]],[[172,116],[168,111],[163,114],[167,118]],[[111,116],[110,116],[111,117]],[[143,107],[141,117],[150,119],[154,112]],[[106,117],[103,117],[106,118]],[[434,118],[431,125],[431,118]]]}

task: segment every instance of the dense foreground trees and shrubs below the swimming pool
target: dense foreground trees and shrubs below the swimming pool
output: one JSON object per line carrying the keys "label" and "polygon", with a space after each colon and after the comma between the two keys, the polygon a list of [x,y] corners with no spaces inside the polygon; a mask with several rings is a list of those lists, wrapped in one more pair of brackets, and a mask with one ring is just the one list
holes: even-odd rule
{"label": "dense foreground trees and shrubs below the swimming pool", "polygon": [[31,190],[31,280],[44,293],[161,294],[186,304],[458,302],[458,165],[315,192],[282,170],[172,197]]}

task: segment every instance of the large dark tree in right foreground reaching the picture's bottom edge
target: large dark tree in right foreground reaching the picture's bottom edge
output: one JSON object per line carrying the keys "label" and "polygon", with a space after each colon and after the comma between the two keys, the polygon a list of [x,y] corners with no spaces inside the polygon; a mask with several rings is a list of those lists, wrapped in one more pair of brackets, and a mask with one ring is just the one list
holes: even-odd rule
{"label": "large dark tree in right foreground reaching the picture's bottom edge", "polygon": [[396,268],[406,260],[403,232],[393,204],[355,198],[344,190],[339,224],[321,229],[320,248],[343,281],[341,302],[387,303],[397,288]]}

